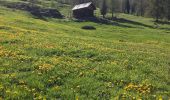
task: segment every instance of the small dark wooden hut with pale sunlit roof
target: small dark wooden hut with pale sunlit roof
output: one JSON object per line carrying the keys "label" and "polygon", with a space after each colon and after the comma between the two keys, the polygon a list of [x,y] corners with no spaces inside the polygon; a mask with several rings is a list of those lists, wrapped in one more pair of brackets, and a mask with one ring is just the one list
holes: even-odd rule
{"label": "small dark wooden hut with pale sunlit roof", "polygon": [[95,5],[92,2],[75,5],[72,9],[75,18],[94,17]]}

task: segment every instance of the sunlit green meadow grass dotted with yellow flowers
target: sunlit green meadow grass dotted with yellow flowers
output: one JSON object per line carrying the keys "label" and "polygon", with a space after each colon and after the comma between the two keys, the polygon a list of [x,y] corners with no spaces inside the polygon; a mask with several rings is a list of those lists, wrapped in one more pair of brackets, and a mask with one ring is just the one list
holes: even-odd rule
{"label": "sunlit green meadow grass dotted with yellow flowers", "polygon": [[44,21],[0,7],[0,99],[168,100],[170,25],[119,17],[131,22]]}

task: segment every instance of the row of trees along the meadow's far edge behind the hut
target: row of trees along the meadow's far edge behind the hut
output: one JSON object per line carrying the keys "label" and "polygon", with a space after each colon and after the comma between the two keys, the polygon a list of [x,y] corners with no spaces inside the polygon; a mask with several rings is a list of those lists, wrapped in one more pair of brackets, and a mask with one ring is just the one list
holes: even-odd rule
{"label": "row of trees along the meadow's far edge behind the hut", "polygon": [[[36,1],[36,0],[30,0]],[[93,2],[105,17],[107,13],[127,13],[137,16],[153,17],[156,21],[170,20],[170,0],[51,0],[67,3],[72,6],[85,2]]]}

